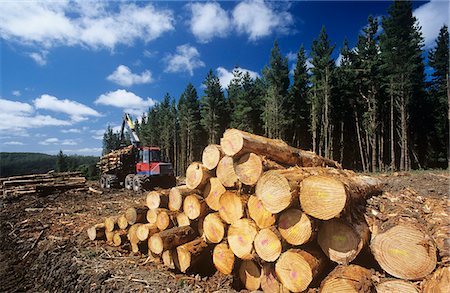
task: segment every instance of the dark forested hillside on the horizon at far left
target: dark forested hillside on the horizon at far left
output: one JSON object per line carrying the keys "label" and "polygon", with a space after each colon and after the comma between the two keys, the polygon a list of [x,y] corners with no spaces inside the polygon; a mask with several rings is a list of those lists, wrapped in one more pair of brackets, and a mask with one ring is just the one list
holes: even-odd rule
{"label": "dark forested hillside on the horizon at far left", "polygon": [[[82,171],[90,179],[96,177],[98,157],[67,156],[67,171]],[[57,156],[41,153],[0,153],[0,177],[47,173],[56,169]]]}

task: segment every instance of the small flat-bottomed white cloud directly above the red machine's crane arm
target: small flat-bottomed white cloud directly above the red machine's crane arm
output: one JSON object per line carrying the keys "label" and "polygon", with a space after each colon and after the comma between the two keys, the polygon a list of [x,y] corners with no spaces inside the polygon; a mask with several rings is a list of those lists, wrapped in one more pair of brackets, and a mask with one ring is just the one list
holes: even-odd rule
{"label": "small flat-bottomed white cloud directly above the red machine's crane arm", "polygon": [[144,100],[133,92],[128,92],[123,89],[103,94],[94,103],[122,108],[125,112],[131,114],[142,114],[149,107],[153,107],[156,104],[151,98]]}

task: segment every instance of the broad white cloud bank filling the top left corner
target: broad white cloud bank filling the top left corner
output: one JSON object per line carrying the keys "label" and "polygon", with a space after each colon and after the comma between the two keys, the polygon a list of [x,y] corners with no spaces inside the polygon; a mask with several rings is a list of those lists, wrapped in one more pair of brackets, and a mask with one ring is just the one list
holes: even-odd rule
{"label": "broad white cloud bank filling the top left corner", "polygon": [[0,36],[45,48],[81,45],[113,49],[174,29],[173,13],[152,4],[94,1],[2,2]]}

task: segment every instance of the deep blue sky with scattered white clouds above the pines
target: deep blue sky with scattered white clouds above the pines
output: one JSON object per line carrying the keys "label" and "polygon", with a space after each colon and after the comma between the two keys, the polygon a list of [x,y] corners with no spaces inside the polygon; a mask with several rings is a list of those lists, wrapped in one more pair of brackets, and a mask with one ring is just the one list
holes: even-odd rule
{"label": "deep blue sky with scattered white clouds above the pines", "polygon": [[[261,75],[275,39],[290,67],[325,25],[354,46],[389,1],[0,0],[0,150],[99,155],[107,125],[134,117],[209,69],[227,87],[235,66]],[[413,2],[426,48],[449,23],[447,1]]]}

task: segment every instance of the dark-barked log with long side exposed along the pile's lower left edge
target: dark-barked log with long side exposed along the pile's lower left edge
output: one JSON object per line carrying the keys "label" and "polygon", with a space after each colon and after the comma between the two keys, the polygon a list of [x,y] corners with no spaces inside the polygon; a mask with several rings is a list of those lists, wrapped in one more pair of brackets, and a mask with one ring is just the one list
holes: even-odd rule
{"label": "dark-barked log with long side exposed along the pile's lower left edge", "polygon": [[189,226],[175,227],[153,234],[148,239],[149,249],[155,254],[173,249],[178,245],[192,241],[197,233]]}

